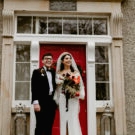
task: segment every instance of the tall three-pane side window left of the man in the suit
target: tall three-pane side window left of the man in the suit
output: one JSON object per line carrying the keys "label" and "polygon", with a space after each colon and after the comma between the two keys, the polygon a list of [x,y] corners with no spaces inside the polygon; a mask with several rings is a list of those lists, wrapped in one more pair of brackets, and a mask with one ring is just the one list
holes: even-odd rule
{"label": "tall three-pane side window left of the man in the suit", "polygon": [[30,45],[16,45],[14,100],[30,100]]}

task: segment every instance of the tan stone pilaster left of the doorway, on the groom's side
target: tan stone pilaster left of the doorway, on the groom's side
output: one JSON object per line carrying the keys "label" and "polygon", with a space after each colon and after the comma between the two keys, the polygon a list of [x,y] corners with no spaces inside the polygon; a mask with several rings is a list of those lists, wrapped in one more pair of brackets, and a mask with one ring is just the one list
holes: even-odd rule
{"label": "tan stone pilaster left of the doorway, on the groom's side", "polygon": [[3,10],[0,134],[10,135],[13,88],[13,11]]}

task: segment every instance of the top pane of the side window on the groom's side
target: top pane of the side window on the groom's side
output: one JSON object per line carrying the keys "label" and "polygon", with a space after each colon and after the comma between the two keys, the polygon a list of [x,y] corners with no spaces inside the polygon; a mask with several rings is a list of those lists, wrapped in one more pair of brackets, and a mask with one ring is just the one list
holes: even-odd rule
{"label": "top pane of the side window on the groom's side", "polygon": [[30,46],[17,45],[16,46],[16,62],[29,62],[30,61]]}

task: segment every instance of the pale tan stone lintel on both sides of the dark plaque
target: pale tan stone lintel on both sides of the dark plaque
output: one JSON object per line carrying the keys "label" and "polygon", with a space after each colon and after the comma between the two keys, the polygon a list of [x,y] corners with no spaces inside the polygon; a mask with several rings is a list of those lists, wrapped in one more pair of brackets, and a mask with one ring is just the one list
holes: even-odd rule
{"label": "pale tan stone lintel on both sides of the dark plaque", "polygon": [[[77,12],[110,13],[121,10],[120,2],[95,3],[89,1],[78,1]],[[95,9],[95,7],[97,8]],[[4,0],[4,9],[16,11],[49,11],[49,0]]]}

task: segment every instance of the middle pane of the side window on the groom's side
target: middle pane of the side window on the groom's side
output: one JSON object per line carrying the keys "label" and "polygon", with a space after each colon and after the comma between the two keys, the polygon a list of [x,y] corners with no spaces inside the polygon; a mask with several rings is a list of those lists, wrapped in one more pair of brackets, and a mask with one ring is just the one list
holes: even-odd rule
{"label": "middle pane of the side window on the groom's side", "polygon": [[30,80],[30,63],[16,64],[16,81]]}

